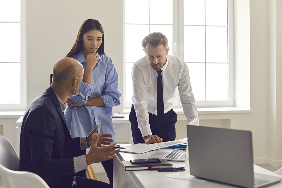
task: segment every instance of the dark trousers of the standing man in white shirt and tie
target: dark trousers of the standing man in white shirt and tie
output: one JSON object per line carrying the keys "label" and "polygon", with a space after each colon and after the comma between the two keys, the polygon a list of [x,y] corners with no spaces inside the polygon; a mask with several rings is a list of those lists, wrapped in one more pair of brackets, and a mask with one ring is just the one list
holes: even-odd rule
{"label": "dark trousers of the standing man in white shirt and tie", "polygon": [[[143,136],[138,128],[138,122],[137,122],[137,117],[136,113],[134,110],[134,106],[132,105],[131,107],[131,112],[129,114],[129,121],[131,124],[131,132],[132,132],[132,137],[133,137],[133,142],[134,144],[136,143],[145,143]],[[165,113],[165,130],[166,133],[164,136],[160,136],[163,138],[163,142],[166,141],[171,141],[175,140],[175,124],[177,121],[177,115],[171,109],[167,113]],[[150,129],[152,131],[152,135],[158,135],[158,117],[156,115],[152,115],[149,113],[149,124],[150,124]]]}

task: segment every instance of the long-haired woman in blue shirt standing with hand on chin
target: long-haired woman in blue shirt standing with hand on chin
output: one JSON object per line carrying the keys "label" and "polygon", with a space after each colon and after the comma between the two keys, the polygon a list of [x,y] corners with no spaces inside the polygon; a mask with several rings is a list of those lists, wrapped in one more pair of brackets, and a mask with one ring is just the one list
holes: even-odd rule
{"label": "long-haired woman in blue shirt standing with hand on chin", "polygon": [[[80,92],[69,97],[65,111],[71,136],[87,136],[99,125],[98,133],[112,134],[115,140],[111,115],[112,107],[120,105],[121,91],[113,61],[104,52],[104,31],[98,20],[83,22],[66,57],[77,59],[84,68]],[[112,185],[113,161],[104,161],[102,165]]]}

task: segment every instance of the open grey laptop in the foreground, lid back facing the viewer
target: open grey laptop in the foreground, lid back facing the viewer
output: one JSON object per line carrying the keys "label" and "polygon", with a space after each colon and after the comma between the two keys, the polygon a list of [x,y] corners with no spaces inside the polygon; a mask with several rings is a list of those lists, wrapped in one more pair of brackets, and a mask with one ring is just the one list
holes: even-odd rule
{"label": "open grey laptop in the foreground, lid back facing the viewer", "polygon": [[240,187],[268,187],[279,176],[254,173],[252,133],[187,125],[190,174]]}

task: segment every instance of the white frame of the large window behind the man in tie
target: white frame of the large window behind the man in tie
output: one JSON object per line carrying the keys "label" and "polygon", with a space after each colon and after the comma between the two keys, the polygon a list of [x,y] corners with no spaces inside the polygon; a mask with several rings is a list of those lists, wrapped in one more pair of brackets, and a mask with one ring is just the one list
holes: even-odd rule
{"label": "white frame of the large window behind the man in tie", "polygon": [[[173,38],[173,55],[184,60],[184,0],[173,0],[172,1],[172,38]],[[228,100],[219,101],[195,101],[197,107],[234,107],[234,11],[233,11],[233,0],[227,0],[228,6]],[[227,8],[227,7],[226,7]],[[150,27],[150,23],[148,24]],[[205,25],[206,26],[206,25]],[[205,39],[206,40],[206,39]],[[206,53],[206,51],[205,51]],[[125,74],[125,0],[123,0],[123,109],[131,108],[132,102],[126,101],[126,74]],[[141,58],[141,57],[140,57]],[[137,60],[137,59],[136,59]],[[204,62],[205,65],[207,64]],[[189,68],[189,67],[188,67]],[[206,84],[206,82],[205,82]],[[193,85],[192,85],[193,91]],[[206,86],[205,86],[206,92]],[[206,93],[205,93],[206,96]],[[182,108],[180,97],[176,97],[173,108]]]}

